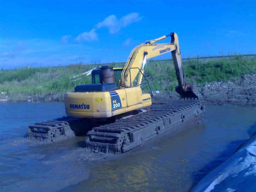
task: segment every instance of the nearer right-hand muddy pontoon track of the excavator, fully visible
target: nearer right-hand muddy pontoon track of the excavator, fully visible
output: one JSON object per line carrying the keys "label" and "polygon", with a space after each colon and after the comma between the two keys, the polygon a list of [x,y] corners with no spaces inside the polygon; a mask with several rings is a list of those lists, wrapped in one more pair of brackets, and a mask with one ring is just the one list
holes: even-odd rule
{"label": "nearer right-hand muddy pontoon track of the excavator, fully visible", "polygon": [[92,128],[86,148],[96,153],[121,154],[180,124],[200,121],[205,112],[198,100],[177,100],[114,123]]}

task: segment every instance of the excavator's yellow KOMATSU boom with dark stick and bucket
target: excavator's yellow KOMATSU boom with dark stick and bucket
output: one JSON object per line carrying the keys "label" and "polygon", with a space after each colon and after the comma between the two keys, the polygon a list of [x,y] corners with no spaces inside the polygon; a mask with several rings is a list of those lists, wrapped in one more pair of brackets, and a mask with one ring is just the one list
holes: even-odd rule
{"label": "excavator's yellow KOMATSU boom with dark stick and bucket", "polygon": [[[167,37],[171,37],[171,43],[156,43]],[[131,87],[132,82],[139,74],[137,86],[140,86],[144,73],[144,66],[146,59],[156,57],[165,53],[171,52],[176,76],[178,80],[178,86],[176,92],[181,95],[182,98],[198,98],[196,86],[194,84],[187,84],[185,81],[185,74],[183,73],[182,60],[180,54],[180,48],[178,43],[178,36],[176,33],[170,33],[166,36],[159,37],[157,39],[147,41],[135,47],[123,68],[121,79],[119,80],[120,87]],[[139,69],[139,70],[138,70]],[[160,72],[160,71],[156,71]]]}

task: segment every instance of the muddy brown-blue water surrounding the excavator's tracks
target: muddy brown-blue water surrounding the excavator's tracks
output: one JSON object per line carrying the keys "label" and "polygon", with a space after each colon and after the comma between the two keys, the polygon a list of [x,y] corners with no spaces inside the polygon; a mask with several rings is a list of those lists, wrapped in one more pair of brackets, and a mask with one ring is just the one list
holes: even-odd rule
{"label": "muddy brown-blue water surrounding the excavator's tracks", "polygon": [[256,130],[252,107],[207,105],[203,123],[159,135],[118,157],[86,152],[85,137],[34,144],[29,124],[63,103],[1,103],[1,191],[188,191]]}

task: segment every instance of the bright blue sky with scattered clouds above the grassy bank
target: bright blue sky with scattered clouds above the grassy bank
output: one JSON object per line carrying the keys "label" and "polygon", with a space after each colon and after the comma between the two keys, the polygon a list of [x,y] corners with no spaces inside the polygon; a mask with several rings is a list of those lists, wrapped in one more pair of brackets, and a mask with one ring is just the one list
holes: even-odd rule
{"label": "bright blue sky with scattered clouds above the grassy bank", "polygon": [[255,14],[255,0],[0,0],[0,64],[11,69],[126,61],[134,46],[170,32],[178,34],[183,58],[255,54]]}

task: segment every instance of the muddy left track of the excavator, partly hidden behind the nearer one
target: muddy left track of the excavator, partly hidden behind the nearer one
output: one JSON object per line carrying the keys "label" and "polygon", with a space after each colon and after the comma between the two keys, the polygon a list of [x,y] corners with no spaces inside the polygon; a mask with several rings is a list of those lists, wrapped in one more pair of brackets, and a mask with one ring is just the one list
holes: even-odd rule
{"label": "muddy left track of the excavator, partly hidden behind the nearer one", "polygon": [[85,135],[93,127],[115,122],[116,119],[133,116],[145,110],[135,110],[128,113],[117,115],[114,118],[81,118],[65,116],[49,121],[34,123],[28,126],[26,137],[31,140],[42,142],[54,142],[64,140],[76,135]]}

